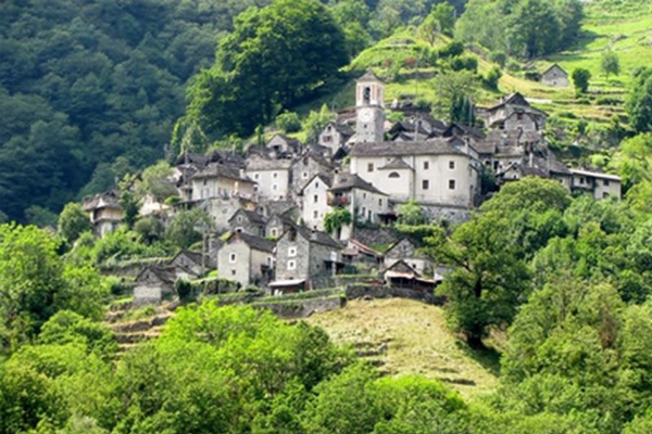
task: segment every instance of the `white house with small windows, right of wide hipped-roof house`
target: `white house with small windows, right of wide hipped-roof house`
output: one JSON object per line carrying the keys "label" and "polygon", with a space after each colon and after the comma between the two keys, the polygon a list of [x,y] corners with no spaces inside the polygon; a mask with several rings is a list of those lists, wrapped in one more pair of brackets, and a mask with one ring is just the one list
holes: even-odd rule
{"label": "white house with small windows, right of wide hipped-roof house", "polygon": [[247,159],[244,173],[256,186],[260,197],[283,200],[289,196],[292,182],[289,158],[272,159],[260,155]]}

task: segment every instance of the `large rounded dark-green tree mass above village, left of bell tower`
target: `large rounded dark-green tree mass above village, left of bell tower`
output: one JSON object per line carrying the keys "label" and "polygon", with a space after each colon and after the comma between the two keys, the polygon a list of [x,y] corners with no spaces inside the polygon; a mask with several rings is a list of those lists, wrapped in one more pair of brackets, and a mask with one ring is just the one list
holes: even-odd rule
{"label": "large rounded dark-green tree mass above village, left of bell tower", "polygon": [[217,60],[190,88],[188,116],[206,133],[249,136],[348,62],[344,35],[317,0],[276,0],[238,16]]}

